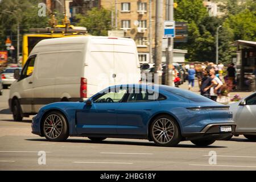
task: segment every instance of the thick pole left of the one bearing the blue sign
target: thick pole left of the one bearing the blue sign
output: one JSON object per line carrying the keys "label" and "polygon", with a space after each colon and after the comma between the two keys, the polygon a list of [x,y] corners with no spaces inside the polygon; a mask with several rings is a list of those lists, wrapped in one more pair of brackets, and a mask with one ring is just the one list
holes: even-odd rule
{"label": "thick pole left of the one bearing the blue sign", "polygon": [[163,0],[155,2],[155,73],[159,77],[158,84],[162,84]]}

